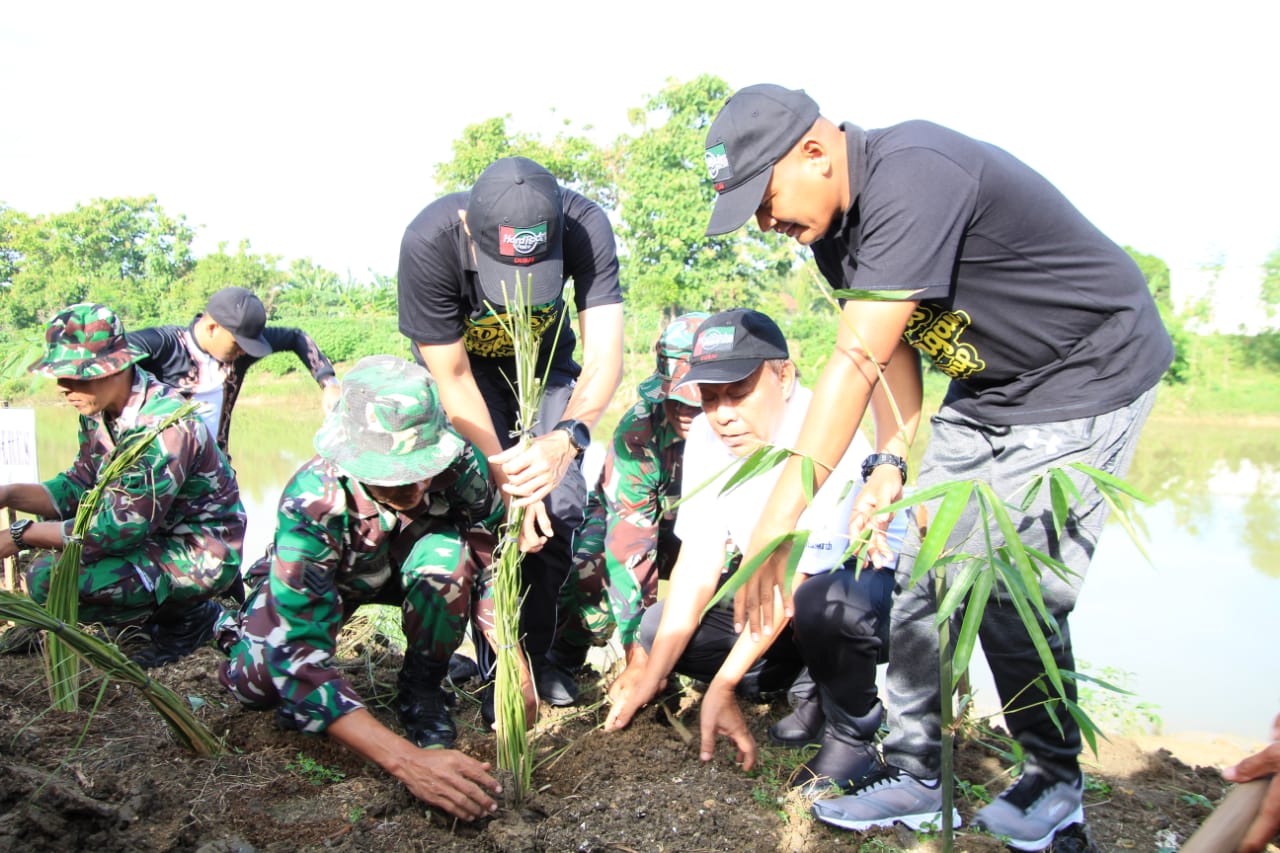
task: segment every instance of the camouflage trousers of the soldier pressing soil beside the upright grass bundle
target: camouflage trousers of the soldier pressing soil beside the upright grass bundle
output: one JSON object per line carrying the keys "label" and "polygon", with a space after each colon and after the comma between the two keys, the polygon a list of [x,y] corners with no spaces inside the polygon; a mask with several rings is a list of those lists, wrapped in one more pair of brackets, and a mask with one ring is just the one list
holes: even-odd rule
{"label": "camouflage trousers of the soldier pressing soil beside the upright grass bundle", "polygon": [[[298,727],[323,730],[324,724],[362,707],[348,689],[316,690],[333,678],[338,634],[356,610],[362,605],[399,605],[406,657],[416,653],[447,666],[479,603],[472,588],[492,540],[490,534],[463,538],[456,530],[426,534],[399,565],[394,565],[394,557],[387,558],[384,570],[370,566],[351,587],[339,590],[330,585],[332,594],[305,613],[287,612],[271,594],[269,561],[255,564],[262,574],[250,578],[251,592],[243,608],[218,628],[218,643],[229,656],[219,679],[246,706],[269,708],[283,702]],[[285,642],[291,617],[305,621],[303,630],[311,637]],[[323,702],[334,707],[310,707],[316,697],[325,697]]]}

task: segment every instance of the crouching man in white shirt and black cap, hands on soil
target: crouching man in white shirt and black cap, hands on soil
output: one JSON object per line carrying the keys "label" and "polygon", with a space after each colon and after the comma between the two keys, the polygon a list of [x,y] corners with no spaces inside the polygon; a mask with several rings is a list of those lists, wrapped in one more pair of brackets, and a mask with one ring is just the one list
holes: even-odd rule
{"label": "crouching man in white shirt and black cap, hands on soil", "polygon": [[[739,634],[732,602],[704,608],[741,548],[751,539],[760,507],[781,465],[726,485],[742,461],[767,444],[790,448],[812,398],[800,387],[786,339],[772,319],[746,309],[708,318],[698,329],[692,365],[684,383],[698,383],[703,415],[685,442],[685,498],[676,516],[680,557],[667,597],[645,612],[637,656],[609,688],[613,707],[605,729],[621,729],[653,699],[676,671],[708,681],[701,712],[701,758],[709,761],[717,734],[737,747],[744,770],[755,763],[755,740],[733,699],[783,689],[809,666],[827,721],[822,749],[794,784],[817,793],[829,784],[847,788],[874,766],[874,735],[882,707],[876,665],[886,648],[892,573],[851,569],[846,561],[855,483],[869,443],[858,437],[801,515],[808,532],[796,566],[795,628],[751,639]],[[684,384],[682,383],[682,384]],[[707,485],[703,485],[703,484]],[[877,565],[893,560],[877,551]],[[740,686],[741,685],[741,686]]]}

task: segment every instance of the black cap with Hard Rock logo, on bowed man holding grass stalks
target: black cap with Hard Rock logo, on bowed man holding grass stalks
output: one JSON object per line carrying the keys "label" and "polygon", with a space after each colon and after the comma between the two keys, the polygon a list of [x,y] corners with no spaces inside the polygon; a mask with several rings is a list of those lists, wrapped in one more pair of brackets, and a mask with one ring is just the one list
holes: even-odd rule
{"label": "black cap with Hard Rock logo, on bowed man holding grass stalks", "polygon": [[563,222],[564,202],[550,172],[529,158],[503,158],[485,169],[467,199],[485,298],[506,305],[518,277],[526,305],[554,301],[564,289]]}

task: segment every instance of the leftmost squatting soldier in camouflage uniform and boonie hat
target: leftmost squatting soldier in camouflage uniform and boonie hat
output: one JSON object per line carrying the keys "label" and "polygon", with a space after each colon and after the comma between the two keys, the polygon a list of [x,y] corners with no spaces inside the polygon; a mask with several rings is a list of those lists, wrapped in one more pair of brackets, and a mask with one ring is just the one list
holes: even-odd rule
{"label": "leftmost squatting soldier in camouflage uniform and boonie hat", "polygon": [[[61,551],[76,511],[116,447],[154,429],[184,401],[142,370],[119,318],[104,305],[59,313],[31,365],[58,380],[79,411],[81,450],[67,471],[44,483],[0,487],[0,506],[37,515],[0,535],[0,556],[23,548]],[[209,640],[221,608],[212,597],[237,578],[244,510],[227,457],[195,414],[155,434],[132,467],[102,493],[83,538],[79,615],[86,622],[145,625],[151,643],[133,654],[143,667],[168,663]],[[49,598],[55,555],[27,573],[31,597]]]}

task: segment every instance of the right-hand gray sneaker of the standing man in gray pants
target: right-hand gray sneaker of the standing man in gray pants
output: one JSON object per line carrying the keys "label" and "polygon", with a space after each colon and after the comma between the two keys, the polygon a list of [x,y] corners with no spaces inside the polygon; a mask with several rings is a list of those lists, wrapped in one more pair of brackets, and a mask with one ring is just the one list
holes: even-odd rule
{"label": "right-hand gray sneaker of the standing man in gray pants", "polygon": [[1042,850],[1060,829],[1084,822],[1082,780],[1053,781],[1029,771],[984,806],[974,824],[1006,840],[1015,850]]}

